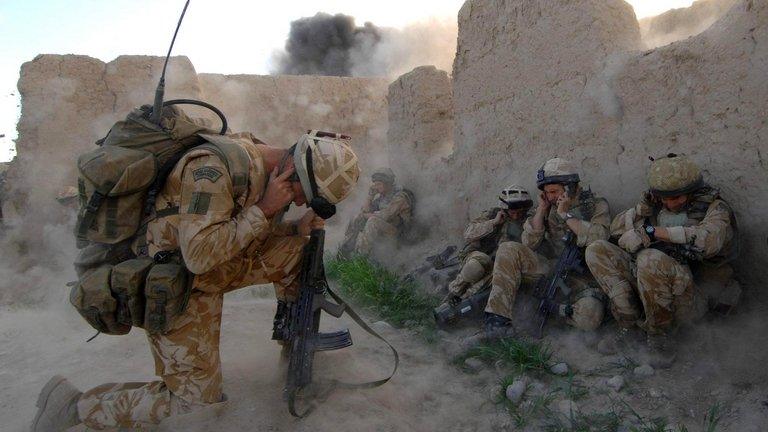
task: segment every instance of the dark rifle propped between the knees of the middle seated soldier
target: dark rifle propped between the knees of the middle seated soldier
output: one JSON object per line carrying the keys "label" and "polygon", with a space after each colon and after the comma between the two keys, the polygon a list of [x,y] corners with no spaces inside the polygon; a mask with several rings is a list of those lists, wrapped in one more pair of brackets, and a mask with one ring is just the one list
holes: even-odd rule
{"label": "dark rifle propped between the knees of the middle seated soldier", "polygon": [[565,242],[565,249],[563,249],[557,260],[555,270],[548,277],[539,279],[539,282],[536,284],[535,295],[540,299],[539,307],[536,311],[536,317],[539,320],[537,336],[539,338],[544,334],[544,325],[547,323],[547,318],[549,318],[549,315],[557,305],[555,297],[557,296],[558,288],[563,290],[564,293],[569,294],[571,289],[566,283],[568,275],[571,271],[576,271],[577,273],[584,271],[581,249],[576,246],[576,236],[571,231],[568,231],[563,238],[563,242]]}

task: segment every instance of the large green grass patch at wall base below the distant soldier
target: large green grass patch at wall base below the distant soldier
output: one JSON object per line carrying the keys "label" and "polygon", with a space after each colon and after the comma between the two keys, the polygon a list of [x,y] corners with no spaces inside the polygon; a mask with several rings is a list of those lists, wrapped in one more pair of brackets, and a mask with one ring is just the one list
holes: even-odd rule
{"label": "large green grass patch at wall base below the distant soldier", "polygon": [[432,311],[438,299],[419,290],[415,282],[401,278],[365,257],[334,259],[326,274],[336,281],[345,298],[395,327],[419,328],[427,340],[435,337]]}

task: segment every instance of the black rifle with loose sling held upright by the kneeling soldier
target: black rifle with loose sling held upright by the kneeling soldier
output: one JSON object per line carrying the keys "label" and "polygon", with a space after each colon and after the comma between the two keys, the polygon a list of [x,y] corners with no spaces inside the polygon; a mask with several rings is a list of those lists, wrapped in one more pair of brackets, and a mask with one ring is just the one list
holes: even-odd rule
{"label": "black rifle with loose sling held upright by the kneeling soldier", "polygon": [[[312,362],[316,351],[331,351],[346,348],[352,345],[352,337],[349,330],[340,330],[331,333],[320,333],[321,312],[325,311],[336,318],[345,312],[360,327],[370,335],[382,340],[389,346],[395,356],[395,366],[392,373],[383,379],[360,384],[349,384],[332,380],[331,384],[343,388],[372,388],[385,384],[394,376],[399,364],[397,350],[371,329],[357,313],[352,310],[338,295],[328,286],[325,279],[323,265],[323,244],[325,231],[313,230],[309,243],[304,246],[299,277],[299,299],[288,304],[287,325],[276,331],[282,333],[282,339],[290,349],[288,360],[288,377],[286,380],[285,394],[288,399],[288,410],[295,417],[304,417],[312,410],[299,414],[296,411],[296,398],[302,389],[312,382]],[[326,294],[330,295],[336,303],[329,301]]]}

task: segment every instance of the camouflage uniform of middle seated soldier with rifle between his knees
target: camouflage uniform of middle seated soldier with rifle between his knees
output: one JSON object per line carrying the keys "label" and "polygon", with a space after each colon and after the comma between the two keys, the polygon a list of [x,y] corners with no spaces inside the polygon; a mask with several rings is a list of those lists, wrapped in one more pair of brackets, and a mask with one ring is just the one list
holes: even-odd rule
{"label": "camouflage uniform of middle seated soldier with rifle between his knees", "polygon": [[[592,206],[594,209],[587,209]],[[607,201],[602,198],[587,199],[582,193],[569,212],[579,219],[581,225],[576,238],[579,247],[608,238],[611,217]],[[585,213],[590,212],[592,217],[589,221],[584,220]],[[557,215],[556,206],[550,209],[545,226],[545,229],[537,231],[533,228],[531,218],[528,218],[523,224],[522,243],[506,242],[499,245],[486,312],[511,319],[520,285],[524,282],[535,283],[548,273],[551,263],[542,254],[560,255],[565,247],[562,239],[568,227]],[[545,246],[549,246],[551,250],[547,251]],[[569,286],[574,290],[573,315],[568,319],[568,323],[583,330],[594,330],[603,318],[602,314],[593,310],[594,308],[586,308],[581,302],[574,301],[579,298],[578,293],[586,292],[590,287],[590,280],[589,275],[571,275],[568,280]]]}

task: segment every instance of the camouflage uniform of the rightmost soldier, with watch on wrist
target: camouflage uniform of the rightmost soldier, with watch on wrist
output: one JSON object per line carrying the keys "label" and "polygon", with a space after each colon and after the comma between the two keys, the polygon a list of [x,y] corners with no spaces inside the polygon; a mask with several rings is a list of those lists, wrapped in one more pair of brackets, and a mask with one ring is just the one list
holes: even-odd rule
{"label": "camouflage uniform of the rightmost soldier, with watch on wrist", "polygon": [[[666,334],[675,322],[701,316],[706,299],[694,283],[696,271],[691,265],[648,247],[650,239],[643,237],[641,228],[646,220],[642,215],[647,212],[641,206],[622,212],[611,224],[611,235],[619,238],[619,246],[596,242],[587,248],[586,261],[610,298],[611,312],[619,325],[637,323],[649,334]],[[669,232],[672,242],[666,246],[688,245],[700,251],[704,263],[696,263],[696,267],[707,266],[707,262],[724,263],[736,247],[732,211],[716,193],[694,197],[688,211],[661,209],[649,219],[652,225]],[[633,232],[644,238],[644,248],[628,253],[625,249],[632,246],[625,234]],[[640,321],[643,312],[645,318]]]}

